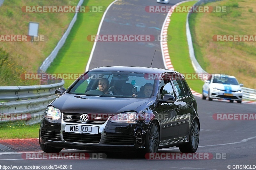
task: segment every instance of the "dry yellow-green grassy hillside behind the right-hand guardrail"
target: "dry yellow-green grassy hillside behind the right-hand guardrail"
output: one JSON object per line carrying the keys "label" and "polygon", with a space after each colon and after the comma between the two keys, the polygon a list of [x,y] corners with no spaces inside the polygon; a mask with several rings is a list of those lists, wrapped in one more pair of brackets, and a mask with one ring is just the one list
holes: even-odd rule
{"label": "dry yellow-green grassy hillside behind the right-hand guardrail", "polygon": [[236,76],[256,88],[256,42],[213,41],[214,35],[255,35],[256,1],[224,0],[206,5],[226,6],[227,12],[193,13],[189,20],[197,61],[209,73]]}

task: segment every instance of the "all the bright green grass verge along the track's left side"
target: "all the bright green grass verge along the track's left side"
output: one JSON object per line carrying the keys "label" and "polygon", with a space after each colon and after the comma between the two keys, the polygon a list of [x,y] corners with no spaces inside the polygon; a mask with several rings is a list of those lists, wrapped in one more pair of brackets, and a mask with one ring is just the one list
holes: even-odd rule
{"label": "all the bright green grass verge along the track's left side", "polygon": [[[113,0],[84,1],[84,6],[105,6]],[[98,31],[103,12],[78,13],[65,45],[47,70],[49,73],[84,73],[93,42],[87,41],[87,35],[95,35]],[[66,80],[67,88],[74,80]],[[40,124],[26,125],[24,122],[1,122],[0,139],[35,138],[38,137]]]}

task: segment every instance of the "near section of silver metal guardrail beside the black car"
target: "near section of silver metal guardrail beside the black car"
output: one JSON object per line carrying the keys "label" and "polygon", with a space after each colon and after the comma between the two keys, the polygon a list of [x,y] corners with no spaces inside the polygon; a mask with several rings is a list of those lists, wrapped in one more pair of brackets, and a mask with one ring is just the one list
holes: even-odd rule
{"label": "near section of silver metal guardrail beside the black car", "polygon": [[44,109],[57,98],[54,92],[64,85],[64,80],[58,81],[51,85],[0,87],[0,100],[4,100],[0,103],[0,122],[40,122]]}

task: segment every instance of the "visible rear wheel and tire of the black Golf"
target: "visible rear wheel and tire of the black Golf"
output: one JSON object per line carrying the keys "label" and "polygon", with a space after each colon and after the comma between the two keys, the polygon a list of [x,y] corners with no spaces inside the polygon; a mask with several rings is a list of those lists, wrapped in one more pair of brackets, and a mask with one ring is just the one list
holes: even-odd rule
{"label": "visible rear wheel and tire of the black Golf", "polygon": [[199,123],[198,120],[194,120],[191,125],[189,133],[189,141],[186,144],[179,146],[182,153],[195,153],[199,144]]}

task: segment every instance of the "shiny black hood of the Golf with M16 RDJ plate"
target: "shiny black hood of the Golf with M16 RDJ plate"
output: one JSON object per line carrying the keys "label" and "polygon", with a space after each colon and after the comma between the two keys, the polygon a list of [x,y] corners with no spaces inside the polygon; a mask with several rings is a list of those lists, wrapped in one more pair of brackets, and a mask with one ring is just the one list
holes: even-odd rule
{"label": "shiny black hood of the Golf with M16 RDJ plate", "polygon": [[82,96],[64,93],[51,105],[66,113],[117,114],[133,111],[149,99]]}

